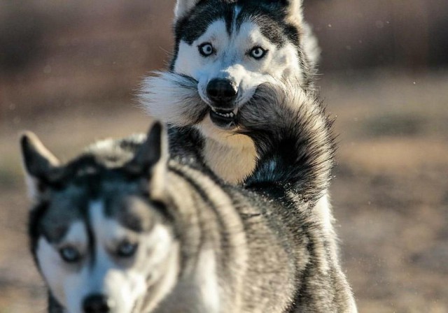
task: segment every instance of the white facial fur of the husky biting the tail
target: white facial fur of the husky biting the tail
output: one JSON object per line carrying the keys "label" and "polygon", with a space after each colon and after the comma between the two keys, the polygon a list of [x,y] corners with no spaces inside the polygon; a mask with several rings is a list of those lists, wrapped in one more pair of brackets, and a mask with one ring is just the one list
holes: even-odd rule
{"label": "white facial fur of the husky biting the tail", "polygon": [[[197,45],[205,42],[214,45],[216,55],[201,56]],[[253,59],[247,55],[247,51],[256,45],[268,50],[262,59]],[[174,71],[195,78],[198,81],[198,93],[209,104],[211,101],[205,92],[209,81],[213,78],[228,78],[239,87],[236,105],[243,105],[262,83],[290,78],[301,82],[303,78],[299,64],[294,45],[286,43],[277,49],[274,43],[262,36],[255,23],[244,22],[239,31],[229,36],[225,22],[218,20],[192,45],[181,41]]]}

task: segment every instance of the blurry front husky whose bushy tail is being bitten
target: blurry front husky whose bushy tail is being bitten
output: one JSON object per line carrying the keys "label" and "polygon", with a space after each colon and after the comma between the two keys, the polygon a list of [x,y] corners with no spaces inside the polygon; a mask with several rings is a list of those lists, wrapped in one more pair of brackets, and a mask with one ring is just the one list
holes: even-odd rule
{"label": "blurry front husky whose bushy tail is being bitten", "polygon": [[23,136],[31,251],[50,312],[356,312],[310,210],[330,180],[330,122],[306,94],[277,92],[239,112],[260,156],[244,187],[216,177],[196,145],[169,157],[158,123],[66,164]]}

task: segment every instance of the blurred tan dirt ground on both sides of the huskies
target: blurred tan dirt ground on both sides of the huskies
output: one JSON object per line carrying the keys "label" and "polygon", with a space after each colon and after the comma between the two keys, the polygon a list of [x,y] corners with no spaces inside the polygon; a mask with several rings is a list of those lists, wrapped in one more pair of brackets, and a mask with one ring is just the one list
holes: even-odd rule
{"label": "blurred tan dirt ground on both sides of the huskies", "polygon": [[[448,312],[448,74],[323,76],[321,85],[337,116],[332,203],[359,311]],[[38,133],[68,159],[146,126],[134,103],[0,112],[0,313],[45,312],[27,245],[18,133]]]}

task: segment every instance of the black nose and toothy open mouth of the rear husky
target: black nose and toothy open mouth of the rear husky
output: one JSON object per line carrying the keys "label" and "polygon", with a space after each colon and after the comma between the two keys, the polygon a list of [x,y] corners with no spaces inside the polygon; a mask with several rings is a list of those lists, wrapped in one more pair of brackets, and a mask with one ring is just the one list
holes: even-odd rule
{"label": "black nose and toothy open mouth of the rear husky", "polygon": [[210,119],[216,126],[223,129],[235,127],[235,108],[238,87],[235,82],[225,78],[214,78],[207,85],[207,96],[211,101]]}

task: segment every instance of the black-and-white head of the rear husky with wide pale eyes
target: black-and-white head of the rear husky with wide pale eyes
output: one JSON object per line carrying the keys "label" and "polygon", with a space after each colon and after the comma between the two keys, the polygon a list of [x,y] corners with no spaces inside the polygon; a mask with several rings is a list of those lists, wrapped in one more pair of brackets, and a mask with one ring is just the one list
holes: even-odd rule
{"label": "black-and-white head of the rear husky with wide pale eyes", "polygon": [[172,71],[197,81],[211,122],[235,126],[241,105],[265,82],[306,84],[300,1],[188,1],[176,6]]}

